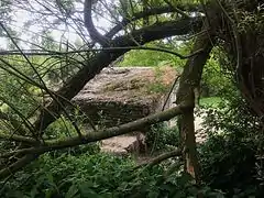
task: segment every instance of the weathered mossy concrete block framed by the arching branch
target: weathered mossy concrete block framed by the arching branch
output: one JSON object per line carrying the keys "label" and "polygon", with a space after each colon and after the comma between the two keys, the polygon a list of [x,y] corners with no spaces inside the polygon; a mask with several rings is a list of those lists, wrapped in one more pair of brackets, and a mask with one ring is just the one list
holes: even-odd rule
{"label": "weathered mossy concrete block framed by the arching branch", "polygon": [[[122,124],[160,111],[176,77],[172,67],[106,68],[73,102],[96,125]],[[169,100],[166,108],[172,103]]]}

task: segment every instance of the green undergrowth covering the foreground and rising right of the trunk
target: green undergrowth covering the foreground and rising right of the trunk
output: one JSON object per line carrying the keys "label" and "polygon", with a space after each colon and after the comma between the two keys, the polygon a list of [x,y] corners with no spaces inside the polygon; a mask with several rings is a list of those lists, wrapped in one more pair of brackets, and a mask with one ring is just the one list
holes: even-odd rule
{"label": "green undergrowth covering the foreground and rising right of the trunk", "polygon": [[[227,101],[229,98],[229,102]],[[263,197],[263,134],[261,121],[246,103],[228,96],[217,107],[200,109],[208,134],[198,145],[202,186],[184,174],[180,158],[154,167],[133,158],[100,153],[98,144],[42,155],[22,172],[0,183],[1,197]],[[59,124],[54,131],[62,131]],[[58,130],[56,130],[58,128]],[[53,131],[52,130],[52,131]],[[153,125],[147,144],[167,151],[179,144],[178,130]]]}

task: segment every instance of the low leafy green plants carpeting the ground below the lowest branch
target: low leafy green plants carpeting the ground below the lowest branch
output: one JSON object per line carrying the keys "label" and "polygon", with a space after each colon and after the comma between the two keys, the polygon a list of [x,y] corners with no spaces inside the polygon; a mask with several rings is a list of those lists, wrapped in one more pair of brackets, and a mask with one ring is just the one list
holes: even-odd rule
{"label": "low leafy green plants carpeting the ground below the lowest branch", "polygon": [[134,165],[131,158],[109,154],[81,154],[78,157],[65,154],[57,158],[45,154],[16,173],[14,178],[0,183],[0,196],[185,198],[198,194],[221,195],[208,187],[197,188],[191,184],[191,177],[178,169],[166,175],[162,166],[134,169]]}

